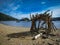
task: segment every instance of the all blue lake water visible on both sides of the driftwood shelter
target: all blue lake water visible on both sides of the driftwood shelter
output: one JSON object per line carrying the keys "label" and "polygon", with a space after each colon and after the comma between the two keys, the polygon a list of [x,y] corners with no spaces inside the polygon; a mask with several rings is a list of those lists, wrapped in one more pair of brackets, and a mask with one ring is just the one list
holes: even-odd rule
{"label": "all blue lake water visible on both sides of the driftwood shelter", "polygon": [[[57,28],[60,28],[60,21],[53,21],[54,25]],[[20,26],[20,27],[31,27],[31,21],[21,21],[21,22],[16,22],[16,21],[1,21],[0,23],[6,24],[9,26]]]}

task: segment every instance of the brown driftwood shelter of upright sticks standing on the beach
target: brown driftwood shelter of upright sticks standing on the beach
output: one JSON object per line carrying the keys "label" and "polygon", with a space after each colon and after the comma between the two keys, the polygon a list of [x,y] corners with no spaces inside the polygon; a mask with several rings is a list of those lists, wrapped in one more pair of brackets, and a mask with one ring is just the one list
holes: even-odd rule
{"label": "brown driftwood shelter of upright sticks standing on the beach", "polygon": [[[50,10],[47,10],[43,14],[30,15],[31,18],[31,33],[39,33],[39,30],[45,25],[46,33],[56,30],[54,23],[52,22],[52,12],[48,13]],[[38,21],[38,23],[37,23]],[[43,22],[42,22],[43,21]],[[41,23],[42,22],[42,23]]]}

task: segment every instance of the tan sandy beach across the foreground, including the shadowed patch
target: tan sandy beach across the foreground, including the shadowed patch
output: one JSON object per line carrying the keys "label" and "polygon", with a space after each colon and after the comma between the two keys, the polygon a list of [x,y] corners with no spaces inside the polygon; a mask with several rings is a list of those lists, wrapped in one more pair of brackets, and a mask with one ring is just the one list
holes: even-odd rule
{"label": "tan sandy beach across the foreground, including the shadowed patch", "polygon": [[37,40],[32,40],[29,31],[30,28],[0,24],[0,45],[60,45],[60,29],[53,32],[56,36]]}

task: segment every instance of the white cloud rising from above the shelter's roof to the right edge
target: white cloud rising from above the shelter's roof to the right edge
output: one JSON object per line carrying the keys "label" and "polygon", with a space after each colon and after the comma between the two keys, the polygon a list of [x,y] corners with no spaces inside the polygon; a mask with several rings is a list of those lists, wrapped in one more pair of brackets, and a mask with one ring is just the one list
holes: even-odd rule
{"label": "white cloud rising from above the shelter's roof to the right edge", "polygon": [[47,10],[53,11],[52,17],[60,17],[60,5],[59,6],[52,6],[52,7],[49,7],[48,9],[45,9],[45,10],[42,10],[42,11],[39,11],[39,12],[32,12],[32,14],[44,13]]}

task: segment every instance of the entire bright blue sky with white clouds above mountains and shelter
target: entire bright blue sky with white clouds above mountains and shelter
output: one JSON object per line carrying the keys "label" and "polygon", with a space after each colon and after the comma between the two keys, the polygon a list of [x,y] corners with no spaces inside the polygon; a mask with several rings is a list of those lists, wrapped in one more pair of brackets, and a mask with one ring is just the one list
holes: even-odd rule
{"label": "entire bright blue sky with white clouds above mountains and shelter", "polygon": [[0,0],[0,12],[17,19],[46,10],[53,11],[52,17],[60,17],[60,0]]}

